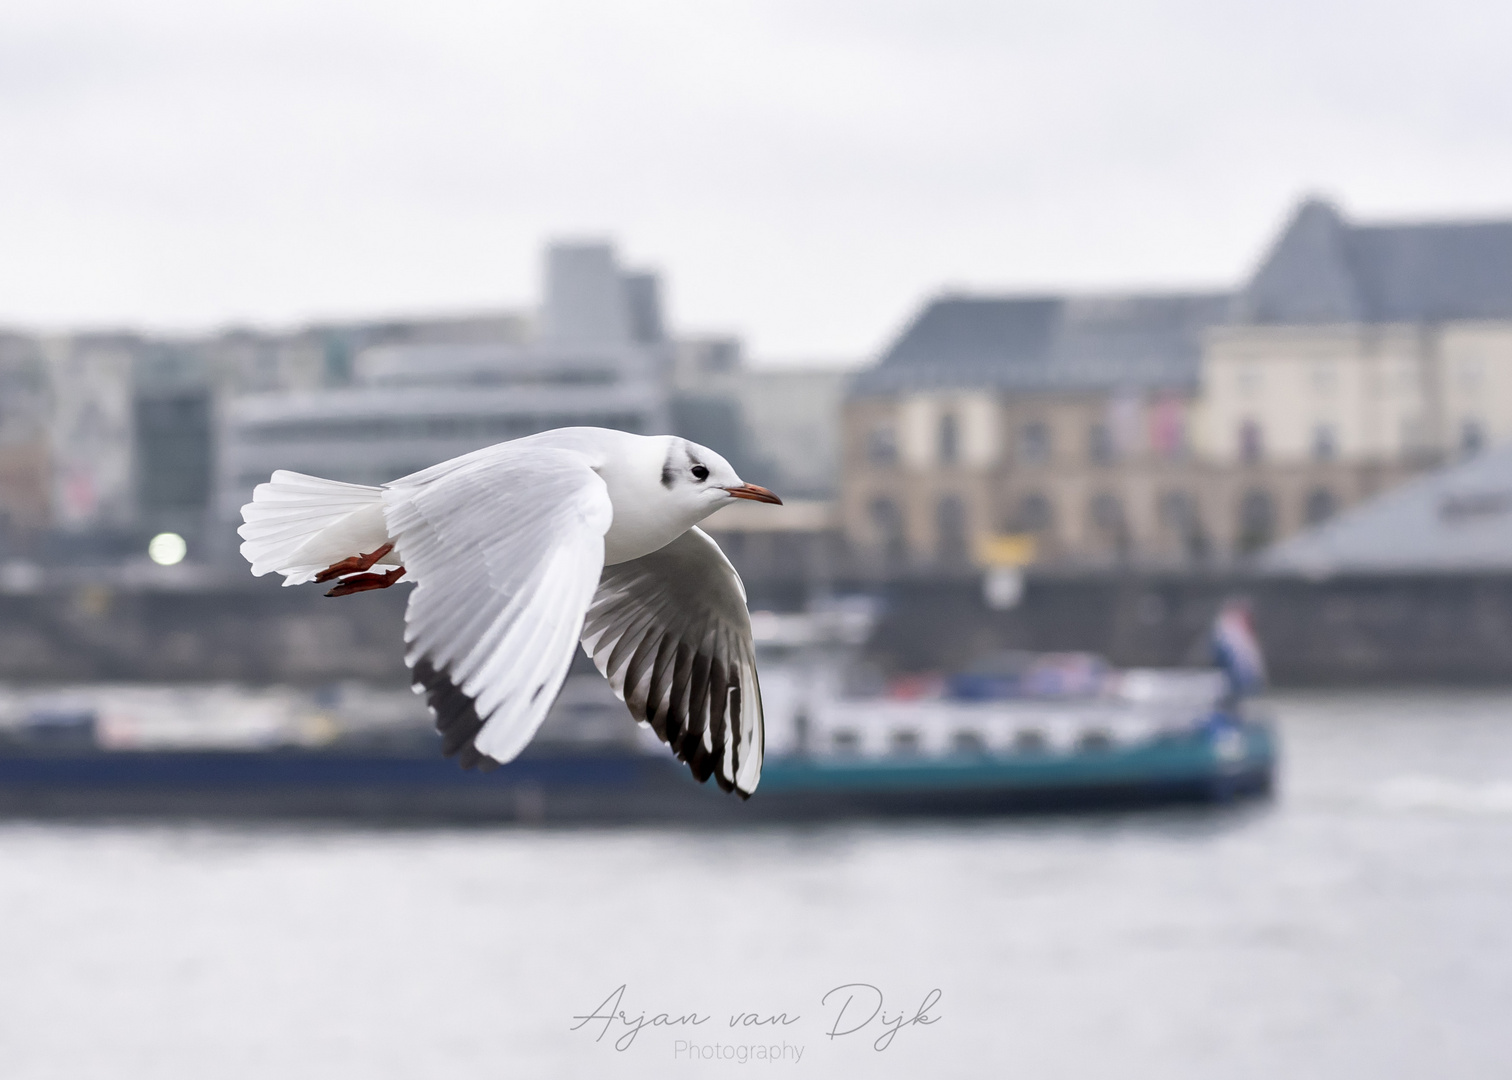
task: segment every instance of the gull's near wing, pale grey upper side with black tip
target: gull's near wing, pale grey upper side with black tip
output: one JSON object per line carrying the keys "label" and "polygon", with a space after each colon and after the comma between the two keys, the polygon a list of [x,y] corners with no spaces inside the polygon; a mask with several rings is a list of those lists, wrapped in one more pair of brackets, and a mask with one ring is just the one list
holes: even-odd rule
{"label": "gull's near wing, pale grey upper side with black tip", "polygon": [[405,663],[448,755],[510,761],[567,676],[614,510],[575,451],[508,443],[384,489],[414,591]]}

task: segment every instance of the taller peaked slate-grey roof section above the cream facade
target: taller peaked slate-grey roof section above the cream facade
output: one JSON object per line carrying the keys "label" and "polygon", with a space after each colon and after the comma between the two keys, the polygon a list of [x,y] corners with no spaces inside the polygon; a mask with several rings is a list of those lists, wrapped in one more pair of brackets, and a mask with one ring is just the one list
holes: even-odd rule
{"label": "taller peaked slate-grey roof section above the cream facade", "polygon": [[1240,295],[1244,322],[1512,318],[1512,221],[1355,225],[1303,203]]}

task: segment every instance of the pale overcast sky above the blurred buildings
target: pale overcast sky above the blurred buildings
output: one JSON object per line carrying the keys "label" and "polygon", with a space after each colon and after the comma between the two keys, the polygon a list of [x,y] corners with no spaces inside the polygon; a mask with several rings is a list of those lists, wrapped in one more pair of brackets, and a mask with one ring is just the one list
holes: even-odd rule
{"label": "pale overcast sky above the blurred buildings", "polygon": [[1305,192],[1512,215],[1512,5],[6,0],[0,321],[525,306],[872,354],[947,287],[1228,286]]}

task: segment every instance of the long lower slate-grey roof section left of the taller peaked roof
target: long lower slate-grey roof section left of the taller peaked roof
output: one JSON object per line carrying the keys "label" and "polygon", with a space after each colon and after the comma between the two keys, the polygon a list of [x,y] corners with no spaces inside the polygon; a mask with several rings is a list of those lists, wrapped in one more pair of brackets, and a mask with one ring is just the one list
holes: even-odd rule
{"label": "long lower slate-grey roof section left of the taller peaked roof", "polygon": [[1231,303],[1228,293],[940,296],[853,393],[1191,389],[1202,331]]}

